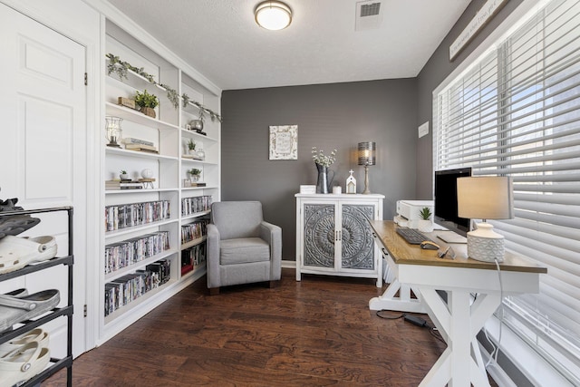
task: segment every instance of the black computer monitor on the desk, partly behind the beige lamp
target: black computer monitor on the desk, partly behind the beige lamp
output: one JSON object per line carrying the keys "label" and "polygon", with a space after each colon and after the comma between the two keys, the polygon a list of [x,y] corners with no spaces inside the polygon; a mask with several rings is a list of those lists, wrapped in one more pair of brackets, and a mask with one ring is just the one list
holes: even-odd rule
{"label": "black computer monitor on the desk, partly behind the beige lamp", "polygon": [[471,168],[436,170],[433,192],[436,224],[465,237],[470,219],[459,218],[457,211],[457,179],[471,176]]}

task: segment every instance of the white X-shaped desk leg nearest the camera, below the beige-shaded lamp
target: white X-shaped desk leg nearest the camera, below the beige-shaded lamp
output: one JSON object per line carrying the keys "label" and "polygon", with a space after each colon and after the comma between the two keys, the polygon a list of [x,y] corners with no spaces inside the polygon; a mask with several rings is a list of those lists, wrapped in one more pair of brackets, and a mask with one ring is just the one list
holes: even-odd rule
{"label": "white X-shaped desk leg nearest the camera, below the beige-shaded lamp", "polygon": [[489,386],[476,334],[501,303],[499,293],[479,294],[471,304],[468,290],[448,290],[447,303],[434,288],[419,286],[428,314],[448,344],[420,386]]}

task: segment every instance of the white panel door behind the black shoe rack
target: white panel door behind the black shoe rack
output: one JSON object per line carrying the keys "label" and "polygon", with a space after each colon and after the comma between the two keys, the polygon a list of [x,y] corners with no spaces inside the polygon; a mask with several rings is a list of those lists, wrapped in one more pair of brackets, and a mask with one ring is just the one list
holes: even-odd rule
{"label": "white panel door behind the black shoe rack", "polygon": [[[74,248],[86,246],[85,48],[43,24],[0,5],[0,198],[19,198],[25,209],[74,207]],[[21,236],[52,235],[67,254],[67,223],[56,215]],[[83,353],[86,257],[75,255],[73,353]],[[50,270],[1,283],[0,291],[25,286],[30,293],[57,288],[67,296],[66,270]],[[10,287],[10,289],[5,289]],[[47,327],[51,351],[65,354],[66,324]]]}

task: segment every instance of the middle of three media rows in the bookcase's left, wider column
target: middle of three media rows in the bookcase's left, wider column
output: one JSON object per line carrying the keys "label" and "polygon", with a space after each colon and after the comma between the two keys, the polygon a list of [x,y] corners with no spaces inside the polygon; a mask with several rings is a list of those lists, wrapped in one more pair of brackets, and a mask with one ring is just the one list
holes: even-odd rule
{"label": "middle of three media rows in the bookcase's left, wider column", "polygon": [[105,246],[105,274],[169,250],[169,231],[158,231]]}

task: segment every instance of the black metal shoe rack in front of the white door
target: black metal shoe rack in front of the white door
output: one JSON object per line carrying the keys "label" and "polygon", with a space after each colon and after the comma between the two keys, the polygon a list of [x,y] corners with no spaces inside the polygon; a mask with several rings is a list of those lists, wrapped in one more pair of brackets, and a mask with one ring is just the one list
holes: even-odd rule
{"label": "black metal shoe rack in front of the white door", "polygon": [[54,308],[50,314],[45,314],[37,319],[24,321],[22,322],[24,325],[16,329],[0,332],[0,343],[5,343],[14,339],[14,337],[25,334],[26,332],[29,332],[30,330],[40,325],[46,324],[58,317],[65,316],[67,319],[66,357],[63,357],[62,359],[51,358],[51,365],[49,367],[43,370],[43,372],[36,374],[32,379],[28,380],[20,387],[37,385],[38,383],[43,382],[47,378],[51,377],[54,373],[59,372],[63,368],[67,369],[66,385],[68,387],[72,387],[73,385],[73,208],[57,207],[0,212],[0,217],[8,217],[11,215],[41,214],[58,211],[67,211],[68,215],[68,256],[54,257],[51,260],[34,265],[24,266],[20,270],[0,275],[0,282],[3,282],[18,276],[24,276],[53,266],[68,266],[68,302],[66,306],[61,308]]}

